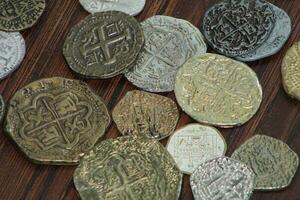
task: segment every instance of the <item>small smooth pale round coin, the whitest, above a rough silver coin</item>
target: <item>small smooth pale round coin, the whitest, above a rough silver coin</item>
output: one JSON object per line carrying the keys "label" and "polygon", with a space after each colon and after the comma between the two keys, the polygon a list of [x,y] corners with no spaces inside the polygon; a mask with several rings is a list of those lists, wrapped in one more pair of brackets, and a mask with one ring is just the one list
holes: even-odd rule
{"label": "small smooth pale round coin, the whitest, above a rough silver coin", "polygon": [[217,129],[189,124],[175,131],[167,149],[181,172],[191,174],[201,163],[225,155],[227,145]]}

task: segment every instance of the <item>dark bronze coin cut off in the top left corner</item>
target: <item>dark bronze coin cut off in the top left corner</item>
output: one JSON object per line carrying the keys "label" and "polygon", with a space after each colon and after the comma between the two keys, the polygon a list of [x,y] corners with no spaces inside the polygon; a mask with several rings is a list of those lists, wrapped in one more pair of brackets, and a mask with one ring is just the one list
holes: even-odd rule
{"label": "dark bronze coin cut off in the top left corner", "polygon": [[32,27],[45,7],[45,0],[1,0],[0,30],[20,31]]}

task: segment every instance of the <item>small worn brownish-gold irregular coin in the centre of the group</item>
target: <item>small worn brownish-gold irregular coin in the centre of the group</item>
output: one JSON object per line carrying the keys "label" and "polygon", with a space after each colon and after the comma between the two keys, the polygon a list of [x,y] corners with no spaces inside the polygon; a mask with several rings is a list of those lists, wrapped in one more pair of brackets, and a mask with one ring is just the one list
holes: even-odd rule
{"label": "small worn brownish-gold irregular coin in the centre of the group", "polygon": [[117,104],[112,117],[122,134],[161,140],[174,132],[179,112],[176,103],[167,97],[134,90]]}

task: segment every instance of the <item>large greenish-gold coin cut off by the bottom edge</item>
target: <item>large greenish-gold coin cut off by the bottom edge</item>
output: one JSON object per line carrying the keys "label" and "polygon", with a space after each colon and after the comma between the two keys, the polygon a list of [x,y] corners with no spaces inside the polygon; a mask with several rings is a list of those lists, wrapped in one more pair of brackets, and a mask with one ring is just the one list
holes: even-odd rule
{"label": "large greenish-gold coin cut off by the bottom edge", "polygon": [[181,182],[182,174],[159,142],[132,136],[99,143],[74,173],[82,200],[174,200]]}

